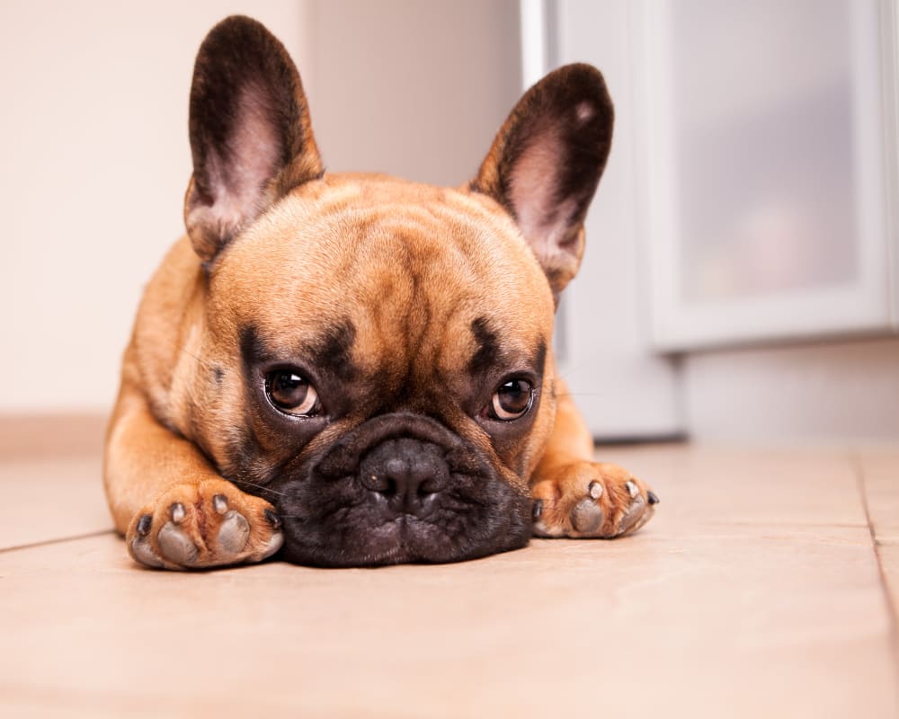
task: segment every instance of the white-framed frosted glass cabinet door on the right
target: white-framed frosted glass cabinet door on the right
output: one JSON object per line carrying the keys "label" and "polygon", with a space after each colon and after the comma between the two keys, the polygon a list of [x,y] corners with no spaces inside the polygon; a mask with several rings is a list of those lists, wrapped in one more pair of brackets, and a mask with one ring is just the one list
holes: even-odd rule
{"label": "white-framed frosted glass cabinet door on the right", "polygon": [[895,327],[895,4],[634,8],[654,345]]}

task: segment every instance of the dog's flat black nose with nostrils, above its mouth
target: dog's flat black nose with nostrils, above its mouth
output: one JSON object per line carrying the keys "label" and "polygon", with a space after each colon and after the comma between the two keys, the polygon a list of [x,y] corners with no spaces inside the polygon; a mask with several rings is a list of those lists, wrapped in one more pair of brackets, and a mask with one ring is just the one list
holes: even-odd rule
{"label": "dog's flat black nose with nostrils, above its mouth", "polygon": [[360,480],[395,513],[423,516],[449,477],[440,448],[420,439],[387,439],[362,459]]}

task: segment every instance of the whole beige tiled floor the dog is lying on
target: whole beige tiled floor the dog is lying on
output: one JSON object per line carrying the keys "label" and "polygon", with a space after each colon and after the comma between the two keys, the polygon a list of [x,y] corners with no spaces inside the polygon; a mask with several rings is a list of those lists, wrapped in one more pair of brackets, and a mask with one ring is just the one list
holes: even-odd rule
{"label": "whole beige tiled floor the dog is lying on", "polygon": [[97,457],[31,454],[2,716],[899,716],[899,446],[606,448],[662,498],[635,537],[194,574],[130,563]]}

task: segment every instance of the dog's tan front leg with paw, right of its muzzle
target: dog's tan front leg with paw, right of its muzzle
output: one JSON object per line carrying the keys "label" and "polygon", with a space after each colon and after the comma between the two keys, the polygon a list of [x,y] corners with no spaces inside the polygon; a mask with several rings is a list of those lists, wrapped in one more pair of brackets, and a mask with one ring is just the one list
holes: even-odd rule
{"label": "dog's tan front leg with paw, right of its muzzle", "polygon": [[593,440],[562,382],[556,386],[556,427],[531,479],[534,534],[620,537],[636,532],[658,497],[616,465],[594,462]]}

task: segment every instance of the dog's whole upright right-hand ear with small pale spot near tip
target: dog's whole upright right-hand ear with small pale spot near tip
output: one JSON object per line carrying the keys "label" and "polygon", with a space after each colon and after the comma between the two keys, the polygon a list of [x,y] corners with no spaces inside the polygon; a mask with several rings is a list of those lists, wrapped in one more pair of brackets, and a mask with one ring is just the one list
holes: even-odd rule
{"label": "dog's whole upright right-hand ear with small pale spot near tip", "polygon": [[609,156],[613,121],[600,71],[560,67],[524,94],[470,184],[512,214],[556,302],[581,264],[583,218]]}

